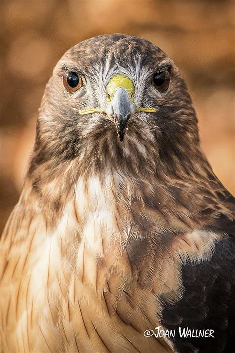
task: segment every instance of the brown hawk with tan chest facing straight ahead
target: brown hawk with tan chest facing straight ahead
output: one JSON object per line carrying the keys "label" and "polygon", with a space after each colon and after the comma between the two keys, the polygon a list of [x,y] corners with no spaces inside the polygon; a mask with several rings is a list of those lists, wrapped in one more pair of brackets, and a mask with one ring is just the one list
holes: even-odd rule
{"label": "brown hawk with tan chest facing straight ahead", "polygon": [[75,45],[1,237],[1,352],[230,352],[233,205],[174,62],[123,34]]}

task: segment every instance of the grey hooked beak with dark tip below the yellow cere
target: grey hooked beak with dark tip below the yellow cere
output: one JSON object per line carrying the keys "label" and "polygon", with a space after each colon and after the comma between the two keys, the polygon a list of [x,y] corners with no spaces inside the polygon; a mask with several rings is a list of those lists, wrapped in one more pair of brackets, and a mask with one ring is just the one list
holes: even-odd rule
{"label": "grey hooked beak with dark tip below the yellow cere", "polygon": [[111,102],[105,107],[105,114],[115,123],[117,134],[122,142],[125,136],[127,123],[136,112],[136,107],[130,101],[124,87],[118,87]]}

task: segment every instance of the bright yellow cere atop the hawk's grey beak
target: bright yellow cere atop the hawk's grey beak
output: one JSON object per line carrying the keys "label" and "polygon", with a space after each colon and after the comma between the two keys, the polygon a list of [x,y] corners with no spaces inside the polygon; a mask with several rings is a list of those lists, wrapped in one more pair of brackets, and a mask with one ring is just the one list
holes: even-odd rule
{"label": "bright yellow cere atop the hawk's grey beak", "polygon": [[107,100],[109,102],[112,100],[115,94],[115,91],[117,90],[118,87],[125,88],[131,102],[133,102],[133,94],[135,91],[135,87],[133,85],[133,82],[128,77],[122,74],[113,76],[110,79],[109,83],[107,84],[107,87],[106,87],[106,93],[108,95]]}

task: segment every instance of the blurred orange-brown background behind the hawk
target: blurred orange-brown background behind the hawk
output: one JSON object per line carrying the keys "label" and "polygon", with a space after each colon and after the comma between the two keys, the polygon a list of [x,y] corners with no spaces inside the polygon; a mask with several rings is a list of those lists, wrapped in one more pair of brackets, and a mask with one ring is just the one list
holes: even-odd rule
{"label": "blurred orange-brown background behind the hawk", "polygon": [[71,46],[103,33],[146,38],[175,61],[194,101],[203,150],[234,193],[234,6],[223,0],[0,0],[0,233],[19,197],[53,67]]}

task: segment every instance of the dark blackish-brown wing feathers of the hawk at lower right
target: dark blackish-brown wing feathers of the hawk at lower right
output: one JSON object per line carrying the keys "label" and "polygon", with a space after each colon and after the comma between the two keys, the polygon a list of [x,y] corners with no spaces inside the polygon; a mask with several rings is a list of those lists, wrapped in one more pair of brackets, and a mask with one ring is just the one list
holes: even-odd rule
{"label": "dark blackish-brown wing feathers of the hawk at lower right", "polygon": [[[210,260],[182,266],[185,292],[174,304],[165,303],[162,324],[176,330],[174,343],[179,352],[232,352],[235,344],[235,239],[215,244]],[[179,327],[211,329],[214,337],[180,337]],[[192,335],[191,335],[192,336]]]}

